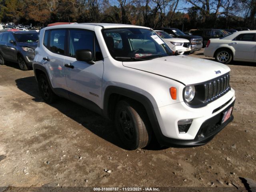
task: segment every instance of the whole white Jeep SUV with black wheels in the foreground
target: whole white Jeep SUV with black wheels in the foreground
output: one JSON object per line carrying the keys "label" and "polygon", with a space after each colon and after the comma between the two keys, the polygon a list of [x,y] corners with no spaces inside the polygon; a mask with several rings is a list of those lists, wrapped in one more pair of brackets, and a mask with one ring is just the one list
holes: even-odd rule
{"label": "whole white Jeep SUV with black wheels in the foreground", "polygon": [[166,146],[198,146],[233,120],[230,68],[174,55],[150,28],[84,23],[43,28],[34,74],[43,99],[72,100],[113,119],[130,149],[154,134]]}

